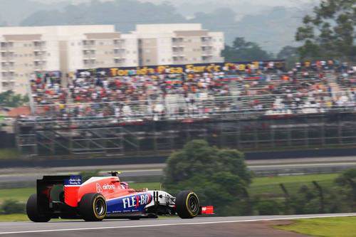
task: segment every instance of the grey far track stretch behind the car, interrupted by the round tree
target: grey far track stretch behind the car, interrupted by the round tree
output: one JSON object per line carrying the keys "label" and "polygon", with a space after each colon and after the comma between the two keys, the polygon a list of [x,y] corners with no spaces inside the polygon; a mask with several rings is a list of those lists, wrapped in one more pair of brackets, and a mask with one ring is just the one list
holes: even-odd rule
{"label": "grey far track stretch behind the car, interrupted by the round tree", "polygon": [[[248,169],[253,172],[270,172],[271,174],[284,171],[286,174],[303,174],[305,169],[323,170],[333,172],[335,169],[350,169],[356,167],[356,157],[321,157],[303,159],[268,159],[247,161]],[[120,170],[122,180],[130,181],[130,177],[159,177],[163,174],[165,164],[130,164],[130,165],[103,165],[83,167],[55,167],[55,168],[11,168],[0,169],[0,184],[12,182],[32,182],[48,174],[76,174],[83,170],[102,171]]]}

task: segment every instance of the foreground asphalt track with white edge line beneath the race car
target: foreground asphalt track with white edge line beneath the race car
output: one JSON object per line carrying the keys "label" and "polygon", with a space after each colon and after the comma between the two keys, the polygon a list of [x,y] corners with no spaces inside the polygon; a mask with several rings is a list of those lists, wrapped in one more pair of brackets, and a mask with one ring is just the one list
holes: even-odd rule
{"label": "foreground asphalt track with white edge line beneath the race car", "polygon": [[0,236],[256,236],[294,237],[296,233],[271,228],[297,218],[356,216],[356,214],[323,214],[303,216],[240,216],[165,218],[140,221],[107,220],[102,222],[51,221],[49,223],[1,222]]}

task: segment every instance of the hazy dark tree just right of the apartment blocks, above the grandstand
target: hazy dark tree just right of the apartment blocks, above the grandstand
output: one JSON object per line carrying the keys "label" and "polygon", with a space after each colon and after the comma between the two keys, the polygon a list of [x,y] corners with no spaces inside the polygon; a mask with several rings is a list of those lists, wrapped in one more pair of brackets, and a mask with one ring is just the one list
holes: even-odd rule
{"label": "hazy dark tree just right of the apartment blocks, above the grandstand", "polygon": [[221,56],[228,62],[269,60],[273,58],[270,53],[263,51],[257,43],[246,41],[242,37],[236,38],[232,46],[225,46]]}

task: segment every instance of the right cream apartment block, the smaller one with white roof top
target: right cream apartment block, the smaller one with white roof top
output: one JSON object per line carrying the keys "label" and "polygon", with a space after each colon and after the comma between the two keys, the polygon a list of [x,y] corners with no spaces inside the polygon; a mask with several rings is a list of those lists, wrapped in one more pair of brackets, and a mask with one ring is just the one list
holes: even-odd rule
{"label": "right cream apartment block, the smaller one with white roof top", "polygon": [[132,34],[140,65],[224,62],[224,33],[207,31],[200,23],[142,24]]}

